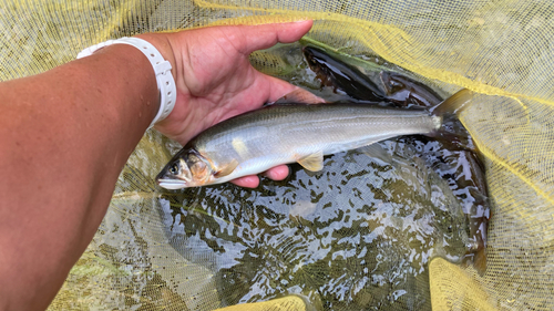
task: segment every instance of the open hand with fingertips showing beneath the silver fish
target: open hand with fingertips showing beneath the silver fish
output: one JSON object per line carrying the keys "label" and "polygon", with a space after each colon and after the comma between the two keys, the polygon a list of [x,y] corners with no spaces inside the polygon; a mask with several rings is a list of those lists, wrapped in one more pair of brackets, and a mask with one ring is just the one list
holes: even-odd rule
{"label": "open hand with fingertips showing beneath the silver fish", "polygon": [[[256,71],[248,55],[277,42],[297,41],[311,24],[311,21],[300,21],[211,27],[137,35],[154,44],[171,62],[177,87],[173,112],[155,128],[184,145],[216,123],[256,110],[297,90],[288,82]],[[288,167],[280,165],[265,175],[280,180],[287,177]],[[257,187],[259,179],[257,176],[245,176],[232,183]]]}

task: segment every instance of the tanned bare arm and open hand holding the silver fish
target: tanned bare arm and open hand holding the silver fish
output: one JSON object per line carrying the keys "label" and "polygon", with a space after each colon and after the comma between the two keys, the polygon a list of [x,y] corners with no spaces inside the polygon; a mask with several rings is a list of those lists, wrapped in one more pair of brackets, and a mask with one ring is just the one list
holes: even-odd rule
{"label": "tanned bare arm and open hand holding the silver fish", "polygon": [[[175,108],[157,129],[186,143],[296,87],[248,55],[294,42],[311,21],[144,34],[171,62]],[[177,73],[177,74],[176,74]],[[127,157],[158,110],[154,70],[115,44],[0,83],[0,310],[44,309],[96,231]],[[268,176],[283,179],[286,166]],[[250,178],[249,178],[250,177]],[[234,183],[256,187],[257,177]]]}

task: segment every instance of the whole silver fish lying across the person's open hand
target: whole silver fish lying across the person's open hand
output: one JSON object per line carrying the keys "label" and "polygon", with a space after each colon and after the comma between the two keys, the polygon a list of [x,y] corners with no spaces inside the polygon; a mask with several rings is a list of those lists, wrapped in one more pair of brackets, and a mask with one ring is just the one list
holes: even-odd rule
{"label": "whole silver fish lying across the person's open hand", "polygon": [[324,155],[402,136],[449,137],[442,128],[470,100],[462,90],[430,111],[377,105],[273,105],[226,120],[188,142],[157,176],[179,189],[225,183],[280,164],[322,169]]}

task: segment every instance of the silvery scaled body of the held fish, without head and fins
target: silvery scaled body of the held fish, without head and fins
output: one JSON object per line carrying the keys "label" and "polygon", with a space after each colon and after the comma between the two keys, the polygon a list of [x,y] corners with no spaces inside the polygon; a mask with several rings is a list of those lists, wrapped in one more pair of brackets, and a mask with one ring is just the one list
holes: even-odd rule
{"label": "silvery scaled body of the held fish, without head and fins", "polygon": [[[236,159],[224,183],[295,162],[361,147],[400,135],[432,133],[440,117],[425,111],[366,105],[276,105],[239,115],[203,132],[191,142],[215,166]],[[263,156],[265,155],[265,156]]]}

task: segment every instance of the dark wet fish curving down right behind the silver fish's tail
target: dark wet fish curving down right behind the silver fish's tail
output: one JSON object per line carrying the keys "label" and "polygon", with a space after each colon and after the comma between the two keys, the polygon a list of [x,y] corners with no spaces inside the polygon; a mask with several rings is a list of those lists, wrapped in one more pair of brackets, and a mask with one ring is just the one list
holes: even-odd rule
{"label": "dark wet fish curving down right behind the silver fish's tail", "polygon": [[[381,80],[387,90],[387,96],[394,106],[429,107],[440,103],[442,99],[429,86],[397,73],[381,72]],[[491,217],[489,191],[485,182],[485,169],[474,146],[471,135],[456,118],[449,121],[450,134],[454,141],[430,139],[424,136],[402,138],[423,151],[418,156],[425,159],[429,167],[451,185],[462,203],[469,221],[468,253],[465,263],[483,274],[486,270],[486,235]],[[466,133],[453,135],[453,133]],[[463,138],[466,141],[460,142]]]}

